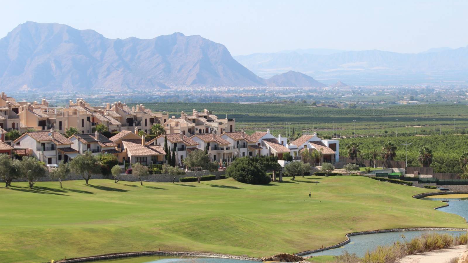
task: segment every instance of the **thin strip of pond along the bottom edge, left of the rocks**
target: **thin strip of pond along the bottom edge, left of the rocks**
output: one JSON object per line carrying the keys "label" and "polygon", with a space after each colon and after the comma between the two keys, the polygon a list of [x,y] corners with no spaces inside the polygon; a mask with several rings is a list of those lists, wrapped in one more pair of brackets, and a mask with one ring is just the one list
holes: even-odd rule
{"label": "thin strip of pond along the bottom edge, left of the rocks", "polygon": [[120,259],[100,260],[102,263],[253,263],[258,261],[239,260],[231,258],[197,257],[187,258],[181,256],[138,256]]}

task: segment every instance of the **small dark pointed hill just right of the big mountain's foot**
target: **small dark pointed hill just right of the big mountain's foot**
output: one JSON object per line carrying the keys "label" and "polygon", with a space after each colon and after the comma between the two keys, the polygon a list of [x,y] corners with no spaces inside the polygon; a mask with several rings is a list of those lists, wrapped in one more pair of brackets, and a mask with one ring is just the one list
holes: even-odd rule
{"label": "small dark pointed hill just right of the big mountain's foot", "polygon": [[274,75],[270,79],[266,80],[266,82],[268,86],[271,87],[327,87],[327,85],[314,80],[314,78],[295,71],[288,71],[283,74]]}

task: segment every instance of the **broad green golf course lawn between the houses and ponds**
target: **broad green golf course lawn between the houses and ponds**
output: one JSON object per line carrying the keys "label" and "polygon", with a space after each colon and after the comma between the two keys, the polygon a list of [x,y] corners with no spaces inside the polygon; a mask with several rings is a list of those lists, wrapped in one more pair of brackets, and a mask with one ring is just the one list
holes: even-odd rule
{"label": "broad green golf course lawn between the houses and ponds", "polygon": [[13,183],[0,188],[1,262],[158,249],[271,256],[333,245],[355,231],[466,227],[460,216],[433,210],[442,202],[411,197],[430,189],[361,176],[285,179],[66,181],[64,189],[39,182],[33,190]]}

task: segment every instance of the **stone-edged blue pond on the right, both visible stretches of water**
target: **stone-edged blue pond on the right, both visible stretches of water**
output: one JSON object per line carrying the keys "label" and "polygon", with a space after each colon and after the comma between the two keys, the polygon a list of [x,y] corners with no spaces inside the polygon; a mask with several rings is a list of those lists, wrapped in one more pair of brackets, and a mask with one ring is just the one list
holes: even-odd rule
{"label": "stone-edged blue pond on the right, both visible stretches of water", "polygon": [[[421,198],[423,200],[449,200],[448,206],[441,207],[438,210],[453,213],[460,215],[461,217],[468,219],[468,198],[450,198],[439,196],[439,198]],[[404,235],[406,240],[411,240],[417,236],[420,236],[423,233],[448,233],[453,235],[464,234],[464,231],[449,231],[449,230],[437,230],[437,231],[402,231],[402,232],[387,232],[387,233],[377,233],[377,234],[362,234],[351,236],[351,242],[339,247],[320,251],[313,254],[308,254],[305,256],[338,256],[343,253],[343,251],[348,251],[350,253],[356,253],[358,256],[362,257],[367,250],[373,250],[377,246],[382,245],[391,245],[395,241],[403,241],[402,235]]]}

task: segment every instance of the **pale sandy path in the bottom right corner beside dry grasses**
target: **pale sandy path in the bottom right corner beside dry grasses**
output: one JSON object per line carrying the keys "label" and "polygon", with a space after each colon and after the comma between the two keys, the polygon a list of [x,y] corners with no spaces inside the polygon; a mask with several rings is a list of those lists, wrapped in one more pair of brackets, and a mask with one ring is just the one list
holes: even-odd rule
{"label": "pale sandy path in the bottom right corner beside dry grasses", "polygon": [[467,250],[467,245],[456,246],[426,252],[423,254],[405,256],[398,263],[445,263],[454,257],[460,257]]}

